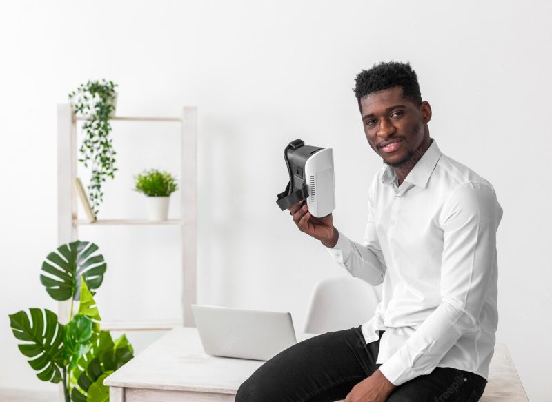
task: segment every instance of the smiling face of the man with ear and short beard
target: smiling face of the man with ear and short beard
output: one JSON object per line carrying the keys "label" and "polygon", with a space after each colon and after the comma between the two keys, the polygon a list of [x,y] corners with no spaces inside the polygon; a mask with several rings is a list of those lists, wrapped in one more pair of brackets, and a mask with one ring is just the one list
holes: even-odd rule
{"label": "smiling face of the man with ear and short beard", "polygon": [[424,145],[430,141],[427,123],[431,119],[431,107],[426,101],[418,108],[403,99],[402,88],[396,86],[369,94],[360,99],[360,106],[368,144],[384,163],[400,166],[419,149],[426,149]]}

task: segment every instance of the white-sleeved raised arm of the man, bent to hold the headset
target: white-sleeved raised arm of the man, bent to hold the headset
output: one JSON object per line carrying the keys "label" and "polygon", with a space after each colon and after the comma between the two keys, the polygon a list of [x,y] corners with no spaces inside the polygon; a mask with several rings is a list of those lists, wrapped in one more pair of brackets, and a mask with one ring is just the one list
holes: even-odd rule
{"label": "white-sleeved raised arm of the man, bent to hold the headset", "polygon": [[360,278],[374,286],[383,282],[387,269],[375,230],[373,190],[376,179],[377,175],[368,190],[368,223],[366,223],[364,232],[364,243],[356,243],[334,228],[337,233],[337,243],[333,248],[328,248],[326,245],[333,259],[348,272],[351,272],[353,277]]}

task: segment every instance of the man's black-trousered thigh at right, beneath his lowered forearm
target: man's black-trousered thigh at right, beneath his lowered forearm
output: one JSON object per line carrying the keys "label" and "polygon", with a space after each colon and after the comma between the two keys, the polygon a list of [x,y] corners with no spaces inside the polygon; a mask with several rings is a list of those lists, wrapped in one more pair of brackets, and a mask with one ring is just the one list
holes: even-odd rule
{"label": "man's black-trousered thigh at right, beneath his lowered forearm", "polygon": [[476,374],[448,367],[436,367],[391,392],[387,402],[477,402],[486,381]]}

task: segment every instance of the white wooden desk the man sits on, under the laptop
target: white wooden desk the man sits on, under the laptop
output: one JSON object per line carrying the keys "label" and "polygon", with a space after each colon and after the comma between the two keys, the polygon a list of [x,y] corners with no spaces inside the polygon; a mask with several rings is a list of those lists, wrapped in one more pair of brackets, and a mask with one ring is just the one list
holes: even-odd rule
{"label": "white wooden desk the man sits on, under the laptop", "polygon": [[[315,334],[298,334],[302,341]],[[233,402],[264,361],[205,354],[197,328],[174,328],[103,382],[110,401]],[[506,345],[497,343],[481,402],[528,402]]]}

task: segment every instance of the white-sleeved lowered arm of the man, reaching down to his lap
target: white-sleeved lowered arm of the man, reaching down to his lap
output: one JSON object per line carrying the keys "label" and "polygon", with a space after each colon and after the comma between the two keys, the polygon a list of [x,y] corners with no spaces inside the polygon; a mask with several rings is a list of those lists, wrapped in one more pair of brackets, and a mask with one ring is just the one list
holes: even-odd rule
{"label": "white-sleeved lowered arm of the man, reaching down to his lap", "polygon": [[457,340],[477,325],[496,257],[502,208],[493,188],[466,183],[442,212],[441,303],[380,366],[395,385],[429,374]]}

